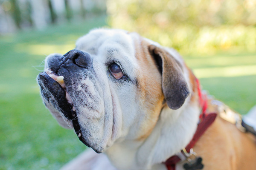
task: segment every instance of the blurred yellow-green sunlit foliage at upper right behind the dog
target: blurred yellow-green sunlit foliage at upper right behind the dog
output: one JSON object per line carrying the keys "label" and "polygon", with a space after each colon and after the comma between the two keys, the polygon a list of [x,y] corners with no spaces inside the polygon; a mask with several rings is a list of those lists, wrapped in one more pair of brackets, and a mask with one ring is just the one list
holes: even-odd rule
{"label": "blurred yellow-green sunlit foliage at upper right behind the dog", "polygon": [[256,50],[256,0],[108,0],[107,11],[112,27],[183,54]]}

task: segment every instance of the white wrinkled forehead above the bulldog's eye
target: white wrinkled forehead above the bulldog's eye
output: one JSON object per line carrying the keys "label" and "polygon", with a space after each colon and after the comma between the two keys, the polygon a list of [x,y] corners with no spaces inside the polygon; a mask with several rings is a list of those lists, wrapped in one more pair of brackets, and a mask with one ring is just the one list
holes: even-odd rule
{"label": "white wrinkled forehead above the bulldog's eye", "polygon": [[137,59],[135,57],[134,36],[118,29],[95,29],[79,38],[76,49],[89,53],[94,61],[104,64],[120,62],[128,74],[135,76]]}

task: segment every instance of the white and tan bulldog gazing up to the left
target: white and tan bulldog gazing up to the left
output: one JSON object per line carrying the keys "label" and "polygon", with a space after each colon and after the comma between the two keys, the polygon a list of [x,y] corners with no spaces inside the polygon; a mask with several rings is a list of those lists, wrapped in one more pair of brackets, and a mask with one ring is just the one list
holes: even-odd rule
{"label": "white and tan bulldog gazing up to the left", "polygon": [[38,84],[59,124],[94,150],[65,170],[256,169],[255,138],[221,113],[239,116],[206,99],[174,49],[137,33],[90,31],[45,59]]}

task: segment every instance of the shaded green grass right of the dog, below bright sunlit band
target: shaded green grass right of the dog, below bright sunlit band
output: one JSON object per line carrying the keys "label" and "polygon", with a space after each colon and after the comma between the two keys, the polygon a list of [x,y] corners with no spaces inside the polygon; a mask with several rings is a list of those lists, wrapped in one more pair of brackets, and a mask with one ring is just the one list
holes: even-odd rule
{"label": "shaded green grass right of the dog, below bright sunlit band", "polygon": [[238,113],[245,114],[256,105],[256,75],[200,79],[204,90]]}

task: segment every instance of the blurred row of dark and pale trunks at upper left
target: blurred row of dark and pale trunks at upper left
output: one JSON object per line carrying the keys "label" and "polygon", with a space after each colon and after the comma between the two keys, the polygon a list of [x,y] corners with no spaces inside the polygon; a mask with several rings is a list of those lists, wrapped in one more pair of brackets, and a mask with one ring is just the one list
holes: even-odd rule
{"label": "blurred row of dark and pale trunks at upper left", "polygon": [[105,0],[0,0],[0,34],[105,15]]}

